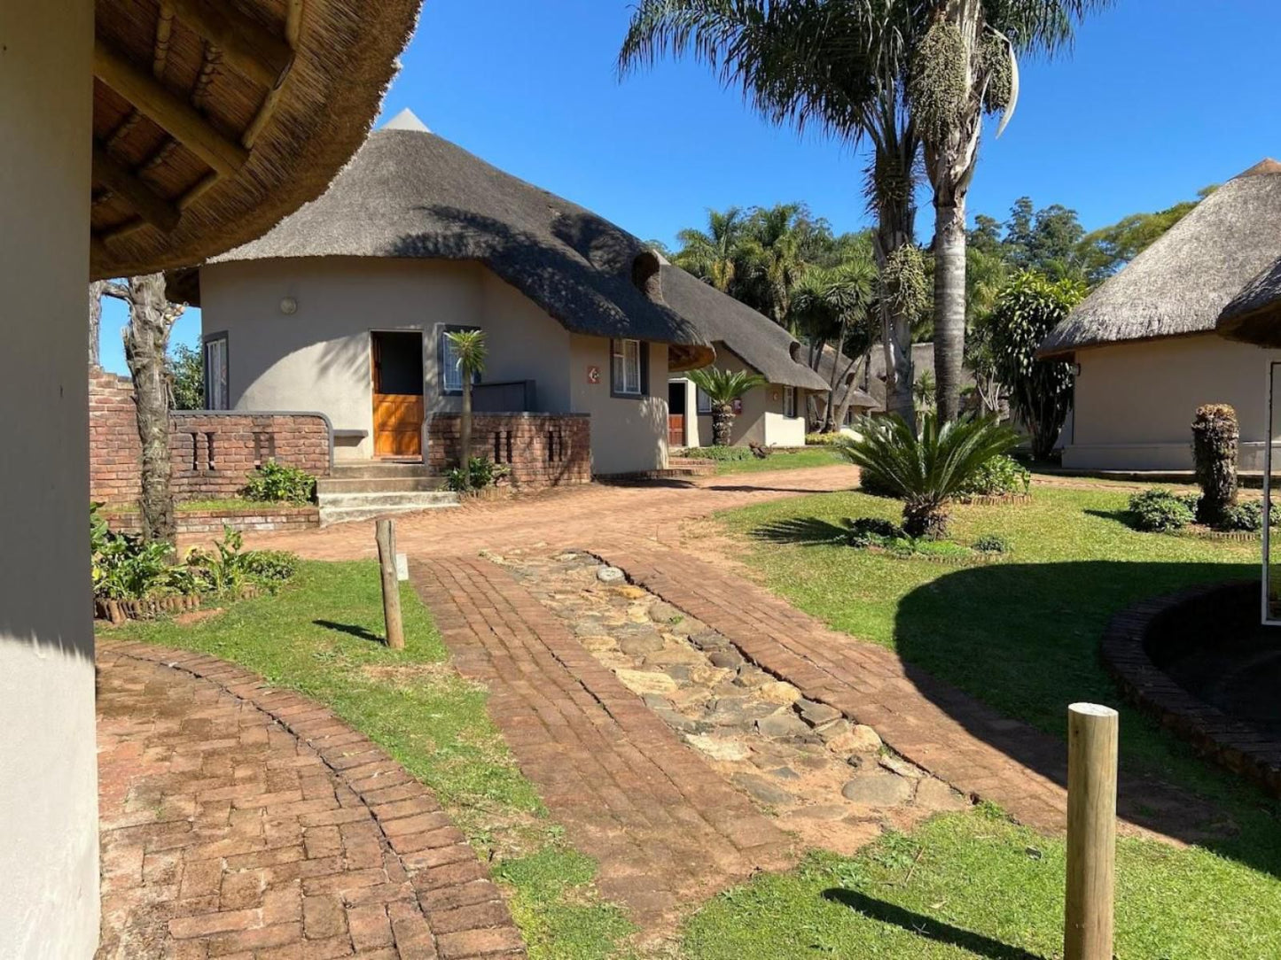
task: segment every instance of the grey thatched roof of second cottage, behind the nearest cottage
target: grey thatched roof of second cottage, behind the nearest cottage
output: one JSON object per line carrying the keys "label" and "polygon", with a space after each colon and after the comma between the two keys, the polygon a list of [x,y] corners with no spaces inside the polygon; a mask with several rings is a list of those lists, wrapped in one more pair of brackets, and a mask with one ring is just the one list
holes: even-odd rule
{"label": "grey thatched roof of second cottage, behind the nearest cottage", "polygon": [[801,344],[770,317],[665,260],[658,280],[662,302],[688,319],[717,351],[724,344],[770,383],[826,389],[822,378],[794,360]]}

